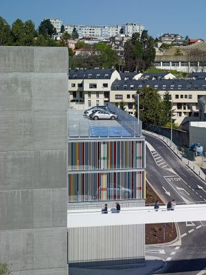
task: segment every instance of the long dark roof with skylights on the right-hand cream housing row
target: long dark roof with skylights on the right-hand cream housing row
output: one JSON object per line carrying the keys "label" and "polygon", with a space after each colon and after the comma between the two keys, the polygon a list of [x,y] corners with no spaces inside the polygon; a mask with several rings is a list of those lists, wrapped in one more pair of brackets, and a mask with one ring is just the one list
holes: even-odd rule
{"label": "long dark roof with skylights on the right-hand cream housing row", "polygon": [[158,91],[205,91],[206,80],[162,79],[162,80],[115,80],[111,90],[130,91],[141,89],[144,86],[152,86]]}

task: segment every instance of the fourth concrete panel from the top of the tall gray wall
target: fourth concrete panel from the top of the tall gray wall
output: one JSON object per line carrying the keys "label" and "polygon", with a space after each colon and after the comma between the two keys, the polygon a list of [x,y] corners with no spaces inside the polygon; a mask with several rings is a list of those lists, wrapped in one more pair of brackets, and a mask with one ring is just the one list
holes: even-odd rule
{"label": "fourth concrete panel from the top of the tall gray wall", "polygon": [[65,188],[65,173],[66,151],[0,152],[0,190]]}

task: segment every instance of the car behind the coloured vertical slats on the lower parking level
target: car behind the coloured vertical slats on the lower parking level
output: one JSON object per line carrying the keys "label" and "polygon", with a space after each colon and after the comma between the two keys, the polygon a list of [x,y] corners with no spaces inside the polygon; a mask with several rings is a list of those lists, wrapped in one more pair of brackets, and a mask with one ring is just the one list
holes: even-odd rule
{"label": "car behind the coloured vertical slats on the lower parking level", "polygon": [[102,190],[101,187],[99,187],[99,197],[101,197],[101,192],[105,191],[107,192],[107,196],[109,199],[131,199],[132,198],[132,190],[128,188],[124,188],[120,184],[111,184],[109,188],[104,188]]}

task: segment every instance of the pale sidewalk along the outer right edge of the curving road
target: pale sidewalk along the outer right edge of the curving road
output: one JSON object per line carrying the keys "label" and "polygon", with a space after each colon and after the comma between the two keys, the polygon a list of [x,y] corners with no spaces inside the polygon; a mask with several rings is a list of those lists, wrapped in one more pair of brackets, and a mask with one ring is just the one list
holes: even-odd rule
{"label": "pale sidewalk along the outer right edge of the curving road", "polygon": [[[172,142],[168,137],[164,137],[163,135],[159,135],[158,133],[152,133],[150,131],[142,130],[142,133],[147,133],[148,135],[153,135],[154,137],[159,138],[159,140],[162,140],[170,149],[181,159],[181,161],[187,165],[198,177],[203,179],[203,181],[206,181],[206,175],[201,169],[201,157],[196,157],[196,160],[192,162],[191,160],[185,159],[185,157],[182,156],[182,153],[178,150],[177,146]],[[204,163],[205,164],[205,163]]]}

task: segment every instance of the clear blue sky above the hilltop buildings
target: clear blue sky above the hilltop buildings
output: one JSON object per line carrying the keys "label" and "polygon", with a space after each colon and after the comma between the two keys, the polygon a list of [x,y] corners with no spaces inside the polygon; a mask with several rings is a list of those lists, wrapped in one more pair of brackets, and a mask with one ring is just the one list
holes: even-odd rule
{"label": "clear blue sky above the hilltop buildings", "polygon": [[60,18],[65,24],[137,22],[153,37],[171,32],[191,39],[206,39],[205,12],[206,0],[4,0],[0,8],[0,16],[10,24],[17,18],[31,19],[38,28],[44,17]]}

